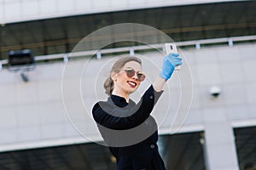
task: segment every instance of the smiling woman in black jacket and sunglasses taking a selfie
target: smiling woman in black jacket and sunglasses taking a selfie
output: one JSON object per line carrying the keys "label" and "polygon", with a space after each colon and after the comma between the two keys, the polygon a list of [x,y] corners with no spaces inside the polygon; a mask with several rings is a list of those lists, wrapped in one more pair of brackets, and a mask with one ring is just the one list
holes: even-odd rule
{"label": "smiling woman in black jacket and sunglasses taking a selfie", "polygon": [[175,66],[182,64],[178,55],[169,54],[165,57],[159,77],[156,77],[137,104],[129,96],[145,79],[142,61],[128,56],[114,63],[104,83],[108,100],[97,102],[92,114],[102,138],[116,157],[118,170],[166,169],[156,144],[157,125],[150,113]]}

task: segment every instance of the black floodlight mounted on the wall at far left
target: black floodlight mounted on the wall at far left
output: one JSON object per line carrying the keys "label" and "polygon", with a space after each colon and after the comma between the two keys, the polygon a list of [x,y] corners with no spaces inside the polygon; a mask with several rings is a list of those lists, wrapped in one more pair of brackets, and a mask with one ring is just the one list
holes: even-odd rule
{"label": "black floodlight mounted on the wall at far left", "polygon": [[35,59],[30,49],[18,51],[9,51],[8,53],[8,70],[20,72],[20,77],[24,82],[29,82],[25,71],[31,71],[35,67]]}

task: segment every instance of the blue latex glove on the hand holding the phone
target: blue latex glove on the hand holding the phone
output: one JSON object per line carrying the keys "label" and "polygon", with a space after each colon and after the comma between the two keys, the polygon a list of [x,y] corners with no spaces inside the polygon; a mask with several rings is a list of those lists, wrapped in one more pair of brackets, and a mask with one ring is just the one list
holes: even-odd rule
{"label": "blue latex glove on the hand holding the phone", "polygon": [[171,53],[164,59],[160,77],[165,78],[166,81],[172,76],[172,72],[177,65],[182,65],[182,59],[178,57],[179,54]]}

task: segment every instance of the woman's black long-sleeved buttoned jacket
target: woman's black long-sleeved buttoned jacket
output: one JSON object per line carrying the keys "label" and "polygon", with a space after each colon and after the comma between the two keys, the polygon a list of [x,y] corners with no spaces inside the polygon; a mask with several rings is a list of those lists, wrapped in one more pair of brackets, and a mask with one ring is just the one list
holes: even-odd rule
{"label": "woman's black long-sleeved buttoned jacket", "polygon": [[158,146],[157,124],[150,116],[162,91],[151,85],[136,104],[110,95],[108,101],[94,105],[92,114],[105,144],[117,159],[118,170],[164,170]]}

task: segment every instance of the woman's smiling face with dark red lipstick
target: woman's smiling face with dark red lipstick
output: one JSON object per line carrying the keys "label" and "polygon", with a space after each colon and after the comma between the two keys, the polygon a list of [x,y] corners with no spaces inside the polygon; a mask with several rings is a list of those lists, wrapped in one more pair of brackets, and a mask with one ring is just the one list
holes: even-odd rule
{"label": "woman's smiling face with dark red lipstick", "polygon": [[[133,69],[136,73],[133,77],[128,77],[125,70]],[[130,61],[120,69],[119,73],[113,75],[114,90],[121,94],[132,94],[137,90],[141,82],[137,77],[137,72],[142,72],[142,66],[136,61]]]}

